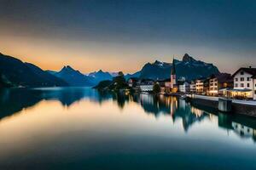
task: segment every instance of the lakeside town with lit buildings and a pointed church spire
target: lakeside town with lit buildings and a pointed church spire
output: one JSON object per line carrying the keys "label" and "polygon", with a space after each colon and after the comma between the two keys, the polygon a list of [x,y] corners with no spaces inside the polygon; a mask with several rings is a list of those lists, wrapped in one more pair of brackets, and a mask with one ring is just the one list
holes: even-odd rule
{"label": "lakeside town with lit buildings and a pointed church spire", "polygon": [[173,59],[172,64],[170,78],[154,81],[131,77],[127,81],[129,87],[146,93],[151,93],[155,87],[158,87],[157,93],[166,95],[199,94],[230,99],[256,100],[256,68],[240,68],[233,75],[218,73],[211,77],[186,81],[184,77],[177,79],[175,59]]}

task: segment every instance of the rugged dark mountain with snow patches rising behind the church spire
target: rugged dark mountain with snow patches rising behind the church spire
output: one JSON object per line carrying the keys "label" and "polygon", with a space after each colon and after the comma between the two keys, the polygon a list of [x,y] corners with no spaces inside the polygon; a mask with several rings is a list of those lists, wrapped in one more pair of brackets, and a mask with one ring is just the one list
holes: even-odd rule
{"label": "rugged dark mountain with snow patches rising behind the church spire", "polygon": [[[182,60],[174,59],[177,78],[185,77],[187,80],[193,80],[199,77],[209,77],[212,74],[218,74],[218,68],[215,65],[196,60],[189,54],[184,54]],[[154,63],[147,63],[139,71],[139,78],[166,79],[170,77],[172,64],[156,60]]]}

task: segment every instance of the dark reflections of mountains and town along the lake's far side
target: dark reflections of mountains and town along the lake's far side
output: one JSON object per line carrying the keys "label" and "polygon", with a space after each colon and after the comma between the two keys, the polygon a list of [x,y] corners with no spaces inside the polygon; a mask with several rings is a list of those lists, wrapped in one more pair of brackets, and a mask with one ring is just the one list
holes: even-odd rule
{"label": "dark reflections of mountains and town along the lake's far side", "polygon": [[34,89],[5,89],[0,91],[0,119],[11,116],[16,112],[36,105],[41,100],[57,100],[63,107],[70,107],[82,99],[101,105],[104,101],[112,100],[122,110],[125,104],[135,103],[143,108],[143,111],[154,116],[168,116],[175,123],[182,120],[185,133],[196,122],[218,118],[218,127],[228,132],[233,131],[241,139],[253,139],[256,141],[256,121],[247,116],[226,115],[202,108],[198,105],[190,105],[183,99],[155,96],[151,94],[109,94],[99,93],[88,88],[34,88]]}

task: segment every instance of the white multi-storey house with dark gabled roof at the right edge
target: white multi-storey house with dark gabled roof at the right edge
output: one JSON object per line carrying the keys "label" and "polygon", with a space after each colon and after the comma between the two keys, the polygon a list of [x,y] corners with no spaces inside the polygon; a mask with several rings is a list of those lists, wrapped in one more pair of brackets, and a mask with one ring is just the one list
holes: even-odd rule
{"label": "white multi-storey house with dark gabled roof at the right edge", "polygon": [[230,90],[231,97],[235,98],[255,98],[255,76],[256,68],[240,68],[233,75],[234,88]]}

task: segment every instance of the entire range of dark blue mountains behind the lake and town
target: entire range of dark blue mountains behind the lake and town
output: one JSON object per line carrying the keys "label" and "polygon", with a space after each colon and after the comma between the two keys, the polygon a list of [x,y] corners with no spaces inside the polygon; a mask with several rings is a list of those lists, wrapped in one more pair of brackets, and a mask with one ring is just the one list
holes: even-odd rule
{"label": "entire range of dark blue mountains behind the lake and town", "polygon": [[[176,59],[175,66],[177,77],[185,77],[187,80],[209,77],[219,73],[215,65],[195,60],[189,54],[184,54],[181,61]],[[144,65],[141,71],[125,75],[125,78],[138,77],[162,80],[170,78],[171,69],[171,63],[156,60],[154,63]],[[91,87],[103,80],[112,80],[117,74],[117,72],[102,70],[83,74],[69,65],[64,66],[61,71],[43,71],[37,65],[24,63],[20,59],[0,53],[0,87],[6,84],[12,84],[16,87]]]}

